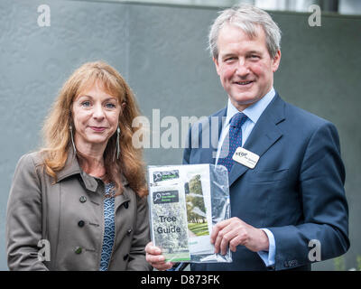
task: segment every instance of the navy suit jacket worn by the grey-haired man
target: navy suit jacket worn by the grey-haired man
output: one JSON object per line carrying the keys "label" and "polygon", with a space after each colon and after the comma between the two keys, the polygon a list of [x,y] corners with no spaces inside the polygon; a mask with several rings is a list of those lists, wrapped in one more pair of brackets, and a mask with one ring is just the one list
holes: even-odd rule
{"label": "navy suit jacket worn by the grey-haired man", "polygon": [[[217,145],[208,143],[217,144],[214,137],[226,115],[224,108],[211,116],[218,124],[208,117],[190,127],[183,163],[215,163]],[[210,134],[215,124],[218,134]],[[195,128],[198,137],[190,137]],[[209,135],[207,144],[202,133]],[[321,260],[344,254],[349,247],[348,208],[336,127],[276,93],[244,148],[260,159],[254,169],[234,163],[229,173],[231,216],[273,232],[275,264],[267,268],[257,253],[238,246],[232,263],[192,264],[191,270],[307,270],[311,239],[321,245]]]}

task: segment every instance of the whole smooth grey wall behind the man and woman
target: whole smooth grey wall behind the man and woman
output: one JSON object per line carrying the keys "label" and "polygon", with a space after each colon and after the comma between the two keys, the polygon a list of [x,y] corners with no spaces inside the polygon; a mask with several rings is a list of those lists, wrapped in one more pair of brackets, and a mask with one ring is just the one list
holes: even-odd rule
{"label": "whole smooth grey wall behind the man and woman", "polygon": [[[39,27],[38,6],[51,8],[51,26]],[[0,269],[6,270],[5,210],[14,167],[41,144],[40,129],[51,103],[72,70],[104,60],[134,89],[143,115],[208,116],[227,103],[208,57],[208,25],[216,8],[88,1],[0,2]],[[338,126],[347,168],[352,247],[346,268],[361,256],[361,132],[359,54],[361,18],[273,13],[282,29],[282,61],[275,89],[285,100]],[[154,110],[159,109],[159,110]],[[161,135],[167,130],[160,128]],[[180,141],[181,145],[181,126]],[[183,127],[184,128],[184,127]],[[187,129],[187,127],[185,127]],[[152,144],[152,143],[151,143]],[[181,148],[149,148],[148,164],[180,163]],[[313,266],[333,270],[333,260]]]}

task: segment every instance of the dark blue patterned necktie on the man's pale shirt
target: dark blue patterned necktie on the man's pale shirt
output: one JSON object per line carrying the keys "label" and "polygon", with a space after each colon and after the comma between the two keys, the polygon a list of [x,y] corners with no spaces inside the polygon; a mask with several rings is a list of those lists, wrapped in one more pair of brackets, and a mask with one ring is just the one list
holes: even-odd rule
{"label": "dark blue patterned necktie on the man's pale shirt", "polygon": [[[236,149],[239,146],[242,146],[242,128],[241,126],[245,123],[247,117],[241,113],[236,113],[235,116],[231,118],[230,125],[229,125],[229,147],[228,147],[228,154],[226,157],[219,157],[218,164],[223,164],[227,167],[228,172],[231,172],[233,166],[233,159],[232,156],[235,154]],[[226,142],[226,139],[225,139]],[[224,143],[225,143],[224,142]],[[222,145],[223,146],[223,145]]]}

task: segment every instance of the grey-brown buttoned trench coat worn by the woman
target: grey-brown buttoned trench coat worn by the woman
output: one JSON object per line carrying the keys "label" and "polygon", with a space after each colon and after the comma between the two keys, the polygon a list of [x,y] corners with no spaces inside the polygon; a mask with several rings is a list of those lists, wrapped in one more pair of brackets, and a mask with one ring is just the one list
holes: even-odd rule
{"label": "grey-brown buttoned trench coat worn by the woman", "polygon": [[[39,153],[25,154],[14,172],[6,223],[10,270],[99,270],[104,183],[82,172],[74,154],[55,184],[41,163]],[[144,253],[150,241],[146,198],[123,181],[125,190],[115,200],[116,237],[108,270],[150,270]]]}

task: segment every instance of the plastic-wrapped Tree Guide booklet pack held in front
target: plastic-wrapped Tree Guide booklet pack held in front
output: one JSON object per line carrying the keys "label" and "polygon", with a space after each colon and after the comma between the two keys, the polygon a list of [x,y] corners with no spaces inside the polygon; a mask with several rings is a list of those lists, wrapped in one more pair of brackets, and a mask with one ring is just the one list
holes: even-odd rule
{"label": "plastic-wrapped Tree Guide booklet pack held in front", "polygon": [[[154,246],[162,248],[166,261],[229,262],[229,258],[226,261],[221,257],[209,258],[214,255],[210,243],[212,217],[229,218],[227,184],[220,186],[222,194],[226,191],[224,195],[219,193],[219,184],[216,185],[218,189],[213,190],[216,194],[213,197],[218,208],[212,208],[211,191],[215,184],[211,178],[214,172],[210,170],[214,168],[212,164],[148,167],[152,240]],[[227,169],[222,168],[226,170],[225,176],[218,175],[227,179]],[[216,216],[212,216],[212,210]]]}

